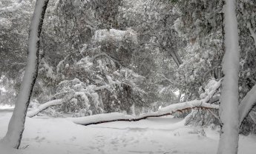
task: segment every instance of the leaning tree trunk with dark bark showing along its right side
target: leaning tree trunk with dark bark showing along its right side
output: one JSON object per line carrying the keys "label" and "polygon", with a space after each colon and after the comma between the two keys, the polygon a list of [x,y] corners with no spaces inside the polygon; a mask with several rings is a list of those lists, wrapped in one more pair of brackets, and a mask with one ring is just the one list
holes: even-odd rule
{"label": "leaning tree trunk with dark bark showing along its right side", "polygon": [[37,0],[30,24],[30,34],[28,42],[27,67],[22,80],[22,85],[16,100],[13,116],[10,118],[7,134],[1,140],[3,144],[13,148],[19,148],[24,130],[24,122],[27,114],[27,107],[33,86],[36,82],[39,66],[39,37],[42,30],[45,10],[48,0]]}

